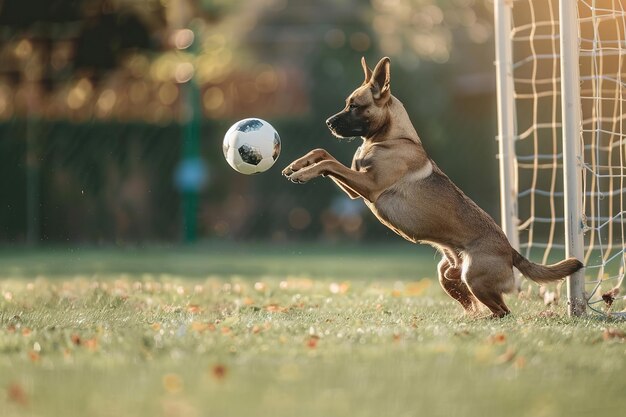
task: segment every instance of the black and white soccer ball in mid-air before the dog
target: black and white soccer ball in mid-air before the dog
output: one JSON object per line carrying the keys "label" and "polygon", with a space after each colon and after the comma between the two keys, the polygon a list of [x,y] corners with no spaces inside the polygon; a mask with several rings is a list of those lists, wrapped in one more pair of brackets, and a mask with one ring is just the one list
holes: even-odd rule
{"label": "black and white soccer ball in mid-air before the dog", "polygon": [[265,120],[250,118],[235,123],[224,135],[224,158],[242,174],[258,174],[274,165],[280,155],[280,136]]}

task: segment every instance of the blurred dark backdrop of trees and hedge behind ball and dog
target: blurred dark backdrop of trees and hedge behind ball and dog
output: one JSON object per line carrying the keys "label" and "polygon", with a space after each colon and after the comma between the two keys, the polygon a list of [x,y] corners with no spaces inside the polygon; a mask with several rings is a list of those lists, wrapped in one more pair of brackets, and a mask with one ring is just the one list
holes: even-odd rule
{"label": "blurred dark backdrop of trees and hedge behind ball and dog", "polygon": [[[361,83],[361,56],[391,57],[427,151],[495,216],[492,13],[491,0],[0,0],[0,242],[182,241],[189,152],[200,240],[387,239],[331,181],[280,175],[315,147],[350,163],[359,139],[324,121]],[[251,116],[283,146],[248,177],[221,141]]]}

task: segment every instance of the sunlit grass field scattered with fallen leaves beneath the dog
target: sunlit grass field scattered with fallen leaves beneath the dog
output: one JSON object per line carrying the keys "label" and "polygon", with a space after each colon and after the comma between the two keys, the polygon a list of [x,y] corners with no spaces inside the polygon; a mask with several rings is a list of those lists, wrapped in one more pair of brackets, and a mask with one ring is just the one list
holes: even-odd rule
{"label": "sunlit grass field scattered with fallen leaves beneath the dog", "polygon": [[618,416],[626,325],[509,297],[473,319],[432,250],[0,250],[0,416]]}

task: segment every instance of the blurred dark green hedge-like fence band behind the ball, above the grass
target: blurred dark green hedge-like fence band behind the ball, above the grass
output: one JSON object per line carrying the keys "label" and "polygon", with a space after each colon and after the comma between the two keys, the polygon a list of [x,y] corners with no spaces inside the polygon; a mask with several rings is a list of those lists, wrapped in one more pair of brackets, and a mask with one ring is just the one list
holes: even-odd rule
{"label": "blurred dark green hedge-like fence band behind the ball, above the grass", "polygon": [[[322,123],[320,123],[321,125]],[[179,124],[13,121],[0,125],[0,208],[3,240],[149,242],[182,239]],[[328,184],[297,187],[280,176],[282,164],[311,141],[285,146],[277,166],[247,177],[221,154],[227,123],[204,123],[202,159],[208,183],[197,210],[201,238],[328,238],[365,233],[361,206]],[[315,132],[308,122],[278,123],[283,137]],[[329,140],[330,145],[333,143]],[[351,146],[330,146],[343,159]],[[320,233],[321,232],[321,233]],[[292,236],[293,235],[293,236]]]}

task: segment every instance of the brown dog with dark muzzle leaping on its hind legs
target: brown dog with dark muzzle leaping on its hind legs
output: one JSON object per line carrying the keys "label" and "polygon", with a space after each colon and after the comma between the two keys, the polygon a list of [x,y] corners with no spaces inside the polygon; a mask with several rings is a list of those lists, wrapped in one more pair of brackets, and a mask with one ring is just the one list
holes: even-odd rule
{"label": "brown dog with dark muzzle leaping on its hind legs", "polygon": [[326,121],[338,137],[361,136],[352,168],[315,149],[283,170],[289,180],[329,176],[351,198],[363,198],[376,217],[411,242],[428,243],[443,255],[439,282],[466,312],[479,301],[494,317],[510,312],[502,294],[513,290],[513,266],[538,283],[560,280],[583,267],[570,258],[544,266],[511,247],[495,221],[428,157],[404,106],[391,95],[390,61],[371,71],[346,107]]}

